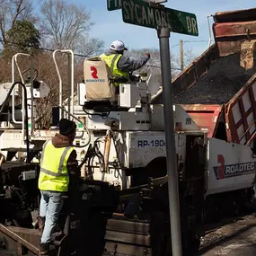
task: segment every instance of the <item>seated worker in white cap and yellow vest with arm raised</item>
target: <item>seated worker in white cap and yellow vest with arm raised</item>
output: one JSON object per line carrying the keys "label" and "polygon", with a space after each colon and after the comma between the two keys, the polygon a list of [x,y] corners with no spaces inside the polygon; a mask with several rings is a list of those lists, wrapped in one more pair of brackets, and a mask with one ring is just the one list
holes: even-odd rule
{"label": "seated worker in white cap and yellow vest with arm raised", "polygon": [[[119,79],[122,83],[127,83],[130,79],[129,73],[145,66],[150,58],[150,54],[146,53],[145,57],[132,59],[124,56],[125,50],[128,49],[125,47],[124,43],[120,40],[115,40],[111,43],[110,49],[100,56],[109,67],[112,78],[115,80]],[[119,84],[118,82],[114,83],[116,86]]]}

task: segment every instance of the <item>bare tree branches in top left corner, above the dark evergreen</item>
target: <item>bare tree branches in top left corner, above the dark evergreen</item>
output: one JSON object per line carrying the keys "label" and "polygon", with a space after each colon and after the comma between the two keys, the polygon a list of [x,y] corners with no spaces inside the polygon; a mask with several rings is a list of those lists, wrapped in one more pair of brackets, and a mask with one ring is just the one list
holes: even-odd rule
{"label": "bare tree branches in top left corner, above the dark evergreen", "polygon": [[32,17],[30,0],[0,0],[0,40],[6,46],[6,32],[13,27],[17,20],[26,19],[35,22]]}

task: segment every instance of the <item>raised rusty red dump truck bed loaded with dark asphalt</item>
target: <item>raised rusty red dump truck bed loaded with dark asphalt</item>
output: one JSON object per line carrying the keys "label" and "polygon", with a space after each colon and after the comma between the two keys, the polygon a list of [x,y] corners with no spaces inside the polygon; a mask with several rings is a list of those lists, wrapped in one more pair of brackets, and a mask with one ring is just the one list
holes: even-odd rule
{"label": "raised rusty red dump truck bed loaded with dark asphalt", "polygon": [[[255,10],[216,13],[216,44],[172,81],[173,103],[207,128],[208,137],[243,145],[256,137]],[[163,103],[162,92],[153,103]]]}

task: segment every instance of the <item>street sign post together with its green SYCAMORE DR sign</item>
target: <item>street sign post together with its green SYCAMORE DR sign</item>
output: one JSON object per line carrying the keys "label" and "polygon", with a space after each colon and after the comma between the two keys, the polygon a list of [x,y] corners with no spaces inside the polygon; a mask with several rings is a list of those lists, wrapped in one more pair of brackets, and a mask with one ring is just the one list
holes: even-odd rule
{"label": "street sign post together with its green SYCAMORE DR sign", "polygon": [[[114,1],[114,0],[110,0]],[[172,236],[172,256],[182,255],[181,216],[178,172],[172,105],[172,74],[170,61],[170,32],[199,36],[197,17],[193,13],[165,8],[165,0],[121,0],[123,21],[157,30],[163,85],[163,114],[165,126],[168,196]]]}

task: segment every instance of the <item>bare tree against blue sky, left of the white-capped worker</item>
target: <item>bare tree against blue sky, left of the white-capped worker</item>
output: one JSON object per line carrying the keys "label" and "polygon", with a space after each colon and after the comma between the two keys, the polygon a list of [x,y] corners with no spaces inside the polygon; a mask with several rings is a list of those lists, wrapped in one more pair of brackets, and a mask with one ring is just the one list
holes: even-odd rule
{"label": "bare tree against blue sky, left of the white-capped worker", "polygon": [[68,4],[66,0],[43,0],[41,7],[42,33],[48,36],[51,47],[73,49],[85,56],[102,47],[102,41],[91,39],[93,26],[84,5]]}

